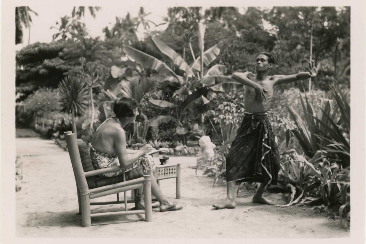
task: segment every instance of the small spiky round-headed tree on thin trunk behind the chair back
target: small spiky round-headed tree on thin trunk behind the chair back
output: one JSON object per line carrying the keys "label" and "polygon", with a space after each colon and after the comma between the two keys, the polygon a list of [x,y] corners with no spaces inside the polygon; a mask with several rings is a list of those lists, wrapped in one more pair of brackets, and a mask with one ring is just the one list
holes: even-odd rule
{"label": "small spiky round-headed tree on thin trunk behind the chair back", "polygon": [[72,131],[77,136],[75,117],[82,115],[88,105],[88,88],[75,76],[67,76],[59,85],[61,112],[71,113]]}

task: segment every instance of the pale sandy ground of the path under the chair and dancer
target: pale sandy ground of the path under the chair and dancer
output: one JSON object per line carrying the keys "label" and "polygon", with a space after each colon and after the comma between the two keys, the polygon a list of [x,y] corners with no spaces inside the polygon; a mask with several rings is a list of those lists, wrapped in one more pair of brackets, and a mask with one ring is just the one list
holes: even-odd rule
{"label": "pale sandy ground of the path under the chair and dancer", "polygon": [[[224,184],[212,187],[212,177],[197,176],[189,168],[195,165],[195,157],[170,158],[171,162],[182,164],[181,199],[175,199],[174,179],[161,181],[164,194],[182,204],[183,210],[160,213],[153,209],[153,222],[149,223],[143,221],[143,215],[95,217],[90,228],[82,228],[81,216],[76,214],[75,179],[68,153],[52,140],[40,138],[16,138],[16,153],[24,159],[22,190],[16,193],[17,237],[350,236],[350,232],[340,227],[339,220],[325,218],[308,207],[255,204],[251,202],[253,192],[246,190],[239,194],[236,209],[214,210],[212,203],[224,199],[226,187]],[[285,203],[281,194],[265,196],[277,204]],[[115,198],[115,195],[105,197]],[[98,207],[92,206],[92,211]]]}

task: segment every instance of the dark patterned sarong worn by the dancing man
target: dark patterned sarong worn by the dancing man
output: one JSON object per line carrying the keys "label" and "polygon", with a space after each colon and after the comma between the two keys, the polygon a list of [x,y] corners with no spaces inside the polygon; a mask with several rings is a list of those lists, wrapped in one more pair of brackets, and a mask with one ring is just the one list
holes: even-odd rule
{"label": "dark patterned sarong worn by the dancing man", "polygon": [[276,185],[279,169],[280,156],[267,115],[245,113],[226,156],[227,182]]}

